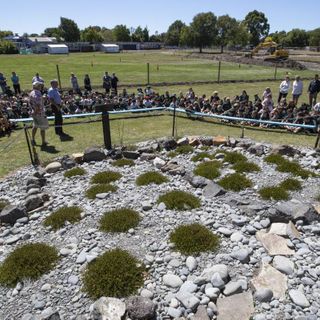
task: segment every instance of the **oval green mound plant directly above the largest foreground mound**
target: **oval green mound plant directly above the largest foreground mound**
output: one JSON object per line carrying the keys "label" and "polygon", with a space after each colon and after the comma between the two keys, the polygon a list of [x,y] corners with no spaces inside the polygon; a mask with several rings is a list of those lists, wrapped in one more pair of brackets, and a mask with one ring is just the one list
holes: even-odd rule
{"label": "oval green mound plant directly above the largest foreground mound", "polygon": [[106,212],[100,220],[100,230],[104,232],[126,232],[135,228],[140,221],[138,212],[122,208]]}

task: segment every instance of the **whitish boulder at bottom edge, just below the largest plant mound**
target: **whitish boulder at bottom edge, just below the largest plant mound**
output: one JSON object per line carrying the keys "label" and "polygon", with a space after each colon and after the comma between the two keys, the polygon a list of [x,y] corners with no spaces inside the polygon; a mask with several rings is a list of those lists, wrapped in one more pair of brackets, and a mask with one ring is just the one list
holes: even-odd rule
{"label": "whitish boulder at bottom edge, just below the largest plant mound", "polygon": [[126,305],[120,299],[101,297],[90,306],[91,320],[121,320]]}

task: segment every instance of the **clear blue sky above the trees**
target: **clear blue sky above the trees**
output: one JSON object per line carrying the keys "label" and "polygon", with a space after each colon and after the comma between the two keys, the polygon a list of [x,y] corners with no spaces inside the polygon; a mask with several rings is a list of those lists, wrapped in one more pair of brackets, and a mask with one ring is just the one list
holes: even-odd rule
{"label": "clear blue sky above the trees", "polygon": [[140,25],[147,26],[151,35],[167,31],[178,19],[189,24],[200,12],[243,20],[253,10],[265,14],[270,32],[320,27],[318,0],[3,0],[0,30],[41,34],[47,27],[57,27],[60,17],[66,17],[80,29],[89,25],[113,28],[125,24],[129,29]]}

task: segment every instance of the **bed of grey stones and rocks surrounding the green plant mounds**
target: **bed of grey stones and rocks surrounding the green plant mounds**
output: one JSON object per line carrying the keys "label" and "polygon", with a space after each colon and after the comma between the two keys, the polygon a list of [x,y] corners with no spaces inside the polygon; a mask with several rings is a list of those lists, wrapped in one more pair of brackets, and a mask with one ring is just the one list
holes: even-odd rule
{"label": "bed of grey stones and rocks surrounding the green plant mounds", "polygon": [[[192,154],[168,157],[168,151],[186,144],[194,146]],[[216,180],[195,176],[197,163],[190,159],[204,145],[217,161],[223,158],[217,151],[229,150],[257,164],[261,172],[246,174],[253,187],[236,193],[224,190]],[[57,159],[44,171],[34,173],[31,167],[18,171],[0,186],[0,198],[11,203],[0,213],[0,263],[26,242],[55,246],[61,260],[36,281],[0,287],[0,319],[319,319],[320,223],[314,200],[319,177],[301,179],[303,189],[292,192],[289,201],[262,200],[257,190],[290,176],[263,160],[271,152],[272,146],[250,140],[185,137],[141,143],[134,151],[89,148],[84,154]],[[281,147],[273,152],[320,173],[316,151]],[[135,166],[112,167],[112,161],[122,156],[135,159]],[[87,175],[65,178],[64,170],[75,165]],[[87,199],[90,177],[111,168],[122,174],[118,191],[103,199]],[[150,170],[162,171],[169,183],[137,187],[135,179]],[[223,163],[221,172],[225,176],[234,170]],[[201,207],[168,210],[157,203],[167,190],[192,192]],[[71,205],[83,209],[79,223],[66,223],[56,232],[43,226],[52,211]],[[126,206],[140,212],[137,228],[124,234],[99,231],[104,212]],[[184,256],[175,251],[170,232],[193,222],[221,236],[218,252]],[[83,271],[116,247],[144,262],[148,269],[144,286],[134,297],[92,301],[81,290]]]}

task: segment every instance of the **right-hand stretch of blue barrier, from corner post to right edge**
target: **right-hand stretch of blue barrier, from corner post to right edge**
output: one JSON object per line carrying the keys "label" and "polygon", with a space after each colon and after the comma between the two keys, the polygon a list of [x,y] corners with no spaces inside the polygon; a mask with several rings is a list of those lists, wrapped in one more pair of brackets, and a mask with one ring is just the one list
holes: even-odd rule
{"label": "right-hand stretch of blue barrier, from corner post to right edge", "polygon": [[[207,118],[215,118],[215,119],[222,119],[222,120],[232,120],[232,121],[246,121],[246,122],[252,122],[252,123],[263,123],[263,124],[271,124],[279,127],[283,126],[291,126],[291,127],[299,127],[299,128],[305,128],[305,129],[316,129],[316,125],[308,125],[308,124],[299,124],[299,123],[290,123],[290,122],[276,122],[276,121],[269,121],[269,120],[257,120],[257,119],[249,119],[249,118],[239,118],[239,117],[231,117],[231,116],[222,116],[219,114],[208,114],[208,113],[202,113],[202,112],[188,112],[185,109],[181,108],[175,108],[176,112],[186,113],[191,116],[197,116],[197,117],[207,117]],[[174,108],[169,107],[167,108],[169,111],[174,111]]]}

